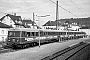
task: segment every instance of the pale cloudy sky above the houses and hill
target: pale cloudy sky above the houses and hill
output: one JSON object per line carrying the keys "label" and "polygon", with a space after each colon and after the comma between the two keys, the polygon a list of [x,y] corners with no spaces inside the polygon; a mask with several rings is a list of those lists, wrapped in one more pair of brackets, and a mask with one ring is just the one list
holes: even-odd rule
{"label": "pale cloudy sky above the houses and hill", "polygon": [[[57,0],[51,0],[56,3]],[[33,12],[38,16],[50,15],[47,17],[35,16],[35,20],[39,20],[40,25],[45,24],[49,20],[55,20],[56,4],[50,0],[0,0],[0,18],[5,13],[21,16],[22,19],[33,19]],[[90,0],[58,0],[59,19],[65,18],[84,18],[90,17]],[[35,21],[37,24],[38,21]]]}

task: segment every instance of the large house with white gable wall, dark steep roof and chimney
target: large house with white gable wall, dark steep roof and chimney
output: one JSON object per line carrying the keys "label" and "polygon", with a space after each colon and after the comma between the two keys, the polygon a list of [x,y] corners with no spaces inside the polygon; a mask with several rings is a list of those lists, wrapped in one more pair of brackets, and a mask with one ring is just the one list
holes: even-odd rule
{"label": "large house with white gable wall, dark steep roof and chimney", "polygon": [[7,14],[3,16],[0,21],[4,24],[7,24],[9,26],[12,26],[14,28],[24,28],[25,26],[22,24],[21,16],[16,16],[16,13],[14,15]]}

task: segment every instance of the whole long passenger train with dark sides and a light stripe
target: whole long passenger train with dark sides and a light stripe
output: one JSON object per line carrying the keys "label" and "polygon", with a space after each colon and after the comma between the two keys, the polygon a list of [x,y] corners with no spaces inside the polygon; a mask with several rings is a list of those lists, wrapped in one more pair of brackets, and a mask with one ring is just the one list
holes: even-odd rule
{"label": "whole long passenger train with dark sides and a light stripe", "polygon": [[25,48],[50,42],[61,42],[86,37],[85,32],[66,30],[47,30],[30,28],[11,28],[6,44],[13,48]]}

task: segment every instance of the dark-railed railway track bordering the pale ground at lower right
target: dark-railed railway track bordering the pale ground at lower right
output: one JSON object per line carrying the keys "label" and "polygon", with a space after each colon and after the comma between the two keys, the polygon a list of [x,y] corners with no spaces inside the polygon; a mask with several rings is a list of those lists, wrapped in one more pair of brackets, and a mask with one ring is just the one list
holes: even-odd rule
{"label": "dark-railed railway track bordering the pale ground at lower right", "polygon": [[49,55],[41,60],[68,60],[70,57],[75,55],[78,51],[85,48],[89,44],[80,42],[72,47],[68,47],[64,50],[58,51],[52,55]]}

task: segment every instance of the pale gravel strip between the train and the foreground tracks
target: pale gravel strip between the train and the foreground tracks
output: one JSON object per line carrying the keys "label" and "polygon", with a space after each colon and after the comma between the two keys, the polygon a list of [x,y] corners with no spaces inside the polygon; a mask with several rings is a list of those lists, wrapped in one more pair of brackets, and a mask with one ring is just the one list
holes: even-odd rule
{"label": "pale gravel strip between the train and the foreground tracks", "polygon": [[0,60],[40,60],[56,51],[65,49],[68,46],[76,44],[81,41],[89,40],[90,38],[77,39],[65,41],[62,43],[50,43],[42,45],[41,47],[27,48],[16,52],[0,54]]}

